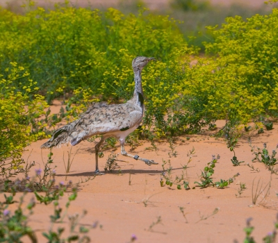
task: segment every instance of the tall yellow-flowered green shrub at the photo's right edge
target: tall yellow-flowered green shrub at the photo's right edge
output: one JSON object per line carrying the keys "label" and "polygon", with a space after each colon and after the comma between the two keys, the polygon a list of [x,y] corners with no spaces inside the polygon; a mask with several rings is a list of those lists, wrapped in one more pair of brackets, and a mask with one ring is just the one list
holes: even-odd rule
{"label": "tall yellow-flowered green shrub at the photo's right edge", "polygon": [[234,92],[247,106],[243,112],[250,117],[265,113],[277,116],[278,9],[247,21],[228,17],[226,22],[219,30],[209,27],[215,42],[206,44],[206,52],[217,54],[218,65],[226,74],[234,74]]}

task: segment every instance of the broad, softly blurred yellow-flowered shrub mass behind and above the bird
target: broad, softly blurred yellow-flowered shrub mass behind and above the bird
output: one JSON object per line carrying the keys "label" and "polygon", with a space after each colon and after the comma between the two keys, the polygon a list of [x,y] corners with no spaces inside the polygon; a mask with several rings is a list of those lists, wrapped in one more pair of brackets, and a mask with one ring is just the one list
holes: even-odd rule
{"label": "broad, softly blurred yellow-flowered shrub mass behind and above the bird", "polygon": [[101,12],[70,6],[0,14],[2,72],[9,62],[28,67],[48,101],[59,95],[60,87],[65,94],[78,87],[98,94],[104,78],[113,85],[114,74],[130,67],[134,57],[154,56],[165,62],[174,47],[186,44],[174,20],[144,9],[138,16],[113,8]]}

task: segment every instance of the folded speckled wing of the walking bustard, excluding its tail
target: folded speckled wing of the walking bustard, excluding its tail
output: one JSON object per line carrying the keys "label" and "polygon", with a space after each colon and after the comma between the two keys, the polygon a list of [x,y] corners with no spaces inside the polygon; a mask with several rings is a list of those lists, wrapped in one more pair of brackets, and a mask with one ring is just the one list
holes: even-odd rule
{"label": "folded speckled wing of the walking bustard, excluding its tail", "polygon": [[92,135],[126,131],[141,121],[142,111],[130,103],[91,107],[72,123],[70,142],[76,145]]}

